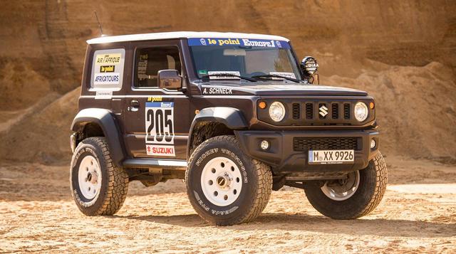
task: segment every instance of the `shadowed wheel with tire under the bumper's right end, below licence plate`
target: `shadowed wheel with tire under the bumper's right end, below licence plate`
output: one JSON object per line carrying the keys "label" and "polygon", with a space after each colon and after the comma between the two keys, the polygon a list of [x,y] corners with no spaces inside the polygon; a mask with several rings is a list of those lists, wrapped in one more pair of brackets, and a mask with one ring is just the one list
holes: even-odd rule
{"label": "shadowed wheel with tire under the bumper's right end, below licence plate", "polygon": [[366,169],[349,173],[346,179],[307,184],[307,199],[317,211],[334,219],[365,216],[378,206],[388,181],[380,152]]}

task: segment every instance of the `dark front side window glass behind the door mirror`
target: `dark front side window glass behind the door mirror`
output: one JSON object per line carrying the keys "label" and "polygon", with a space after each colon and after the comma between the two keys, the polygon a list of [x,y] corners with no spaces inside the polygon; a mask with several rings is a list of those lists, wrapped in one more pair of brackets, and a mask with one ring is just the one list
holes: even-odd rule
{"label": "dark front side window glass behind the door mirror", "polygon": [[135,87],[157,88],[159,70],[177,70],[181,74],[177,47],[138,48],[135,59]]}

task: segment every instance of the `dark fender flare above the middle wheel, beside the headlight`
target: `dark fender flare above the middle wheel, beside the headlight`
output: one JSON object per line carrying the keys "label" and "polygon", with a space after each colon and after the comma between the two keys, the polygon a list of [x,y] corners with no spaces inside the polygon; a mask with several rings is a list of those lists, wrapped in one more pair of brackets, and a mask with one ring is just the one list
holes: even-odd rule
{"label": "dark fender flare above the middle wheel, beside the headlight", "polygon": [[190,157],[193,129],[199,122],[219,122],[229,129],[246,129],[249,127],[241,110],[234,107],[206,107],[195,116],[190,127],[187,142],[187,158]]}

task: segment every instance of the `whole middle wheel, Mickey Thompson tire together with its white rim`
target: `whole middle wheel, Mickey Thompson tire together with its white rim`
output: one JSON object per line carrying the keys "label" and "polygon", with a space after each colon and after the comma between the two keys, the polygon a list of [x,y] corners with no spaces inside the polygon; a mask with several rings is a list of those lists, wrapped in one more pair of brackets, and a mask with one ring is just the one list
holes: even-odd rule
{"label": "whole middle wheel, Mickey Thompson tire together with its white rim", "polygon": [[272,174],[269,166],[242,152],[236,137],[226,135],[199,144],[190,156],[185,183],[201,218],[229,226],[252,221],[264,210]]}

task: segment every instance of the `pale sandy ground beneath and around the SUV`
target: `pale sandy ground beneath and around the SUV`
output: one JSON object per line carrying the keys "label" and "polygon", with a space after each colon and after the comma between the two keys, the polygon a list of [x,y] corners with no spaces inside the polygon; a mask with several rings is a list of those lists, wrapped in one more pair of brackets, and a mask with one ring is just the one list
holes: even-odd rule
{"label": "pale sandy ground beneath and around the SUV", "polygon": [[0,253],[346,253],[456,252],[456,166],[387,157],[389,180],[371,215],[335,221],[318,214],[304,191],[275,191],[256,221],[210,226],[187,201],[182,181],[130,184],[115,216],[76,208],[67,166],[0,166]]}

